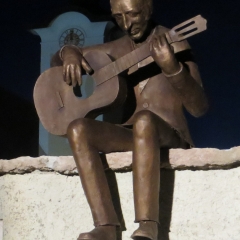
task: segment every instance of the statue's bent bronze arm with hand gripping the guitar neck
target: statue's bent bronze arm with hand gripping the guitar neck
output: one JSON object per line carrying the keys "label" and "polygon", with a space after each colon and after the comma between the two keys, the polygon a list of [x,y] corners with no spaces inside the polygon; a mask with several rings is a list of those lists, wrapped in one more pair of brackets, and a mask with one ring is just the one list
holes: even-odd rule
{"label": "statue's bent bronze arm with hand gripping the guitar neck", "polygon": [[202,116],[208,109],[208,102],[198,67],[191,59],[191,49],[187,42],[175,43],[172,47],[165,35],[157,36],[152,40],[151,51],[155,62],[180,96],[188,112],[195,117]]}

